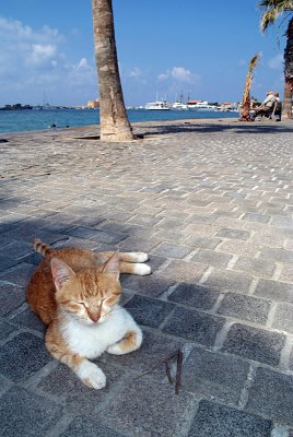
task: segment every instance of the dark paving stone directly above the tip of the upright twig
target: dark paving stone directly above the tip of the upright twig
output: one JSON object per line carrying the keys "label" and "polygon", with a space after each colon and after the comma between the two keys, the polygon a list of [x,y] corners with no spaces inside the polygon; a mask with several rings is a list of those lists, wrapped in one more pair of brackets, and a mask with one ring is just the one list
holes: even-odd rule
{"label": "dark paving stone directly above the tip of the upright twig", "polygon": [[223,328],[224,319],[198,311],[176,308],[163,332],[183,336],[196,343],[212,346],[215,335]]}

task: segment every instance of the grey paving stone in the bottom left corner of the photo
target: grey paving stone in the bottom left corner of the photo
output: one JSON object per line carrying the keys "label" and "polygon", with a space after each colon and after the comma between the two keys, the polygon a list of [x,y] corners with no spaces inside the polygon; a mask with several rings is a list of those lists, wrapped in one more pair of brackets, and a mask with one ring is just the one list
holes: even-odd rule
{"label": "grey paving stone in the bottom left corner of the photo", "polygon": [[44,436],[61,415],[60,405],[20,387],[0,399],[1,436]]}

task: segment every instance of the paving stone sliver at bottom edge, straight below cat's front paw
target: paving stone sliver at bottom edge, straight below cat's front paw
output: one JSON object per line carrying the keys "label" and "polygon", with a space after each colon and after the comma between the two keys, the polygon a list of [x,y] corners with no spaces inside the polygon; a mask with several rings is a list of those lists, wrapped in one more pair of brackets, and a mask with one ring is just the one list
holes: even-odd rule
{"label": "paving stone sliver at bottom edge, straight below cat's front paw", "polygon": [[69,427],[60,435],[61,437],[122,437],[121,434],[91,421],[87,417],[75,417]]}

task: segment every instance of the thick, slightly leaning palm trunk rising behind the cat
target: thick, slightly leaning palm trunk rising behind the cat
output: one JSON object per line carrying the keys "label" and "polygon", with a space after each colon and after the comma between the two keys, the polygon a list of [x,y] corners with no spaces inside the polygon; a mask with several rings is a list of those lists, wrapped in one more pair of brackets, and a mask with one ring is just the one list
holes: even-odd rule
{"label": "thick, slightly leaning palm trunk rising behind the cat", "polygon": [[120,82],[112,0],[92,0],[94,50],[98,75],[101,140],[131,141]]}

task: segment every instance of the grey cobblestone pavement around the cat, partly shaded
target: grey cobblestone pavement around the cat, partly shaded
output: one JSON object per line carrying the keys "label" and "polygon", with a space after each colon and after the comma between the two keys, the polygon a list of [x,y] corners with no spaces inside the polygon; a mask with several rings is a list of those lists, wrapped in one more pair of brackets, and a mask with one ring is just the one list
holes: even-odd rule
{"label": "grey cobblestone pavement around the cat, partly shaded", "polygon": [[[293,122],[134,130],[2,135],[0,435],[292,437]],[[122,277],[143,345],[96,361],[104,390],[45,350],[25,303],[34,237],[150,253],[152,275]],[[141,376],[178,349],[178,394],[163,366]]]}

